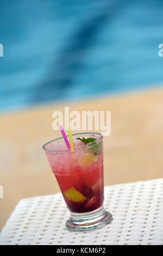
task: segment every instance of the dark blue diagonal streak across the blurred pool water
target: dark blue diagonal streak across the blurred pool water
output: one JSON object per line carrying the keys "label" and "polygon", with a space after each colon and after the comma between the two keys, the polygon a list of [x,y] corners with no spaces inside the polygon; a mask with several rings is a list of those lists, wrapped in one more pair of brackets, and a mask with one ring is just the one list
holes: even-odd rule
{"label": "dark blue diagonal streak across the blurred pool water", "polygon": [[71,87],[72,82],[86,64],[85,59],[92,45],[95,44],[99,31],[106,22],[116,17],[121,9],[122,4],[107,5],[102,10],[99,9],[98,13],[96,12],[88,22],[85,22],[82,28],[77,28],[71,40],[65,44],[65,49],[60,52],[59,59],[53,62],[51,70],[45,76],[45,81],[37,87],[34,102],[58,100],[65,96],[66,90]]}

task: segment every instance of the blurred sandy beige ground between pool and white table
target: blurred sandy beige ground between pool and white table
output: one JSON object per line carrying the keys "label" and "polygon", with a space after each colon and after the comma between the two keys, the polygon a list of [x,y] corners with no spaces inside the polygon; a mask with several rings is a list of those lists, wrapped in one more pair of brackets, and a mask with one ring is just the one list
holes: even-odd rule
{"label": "blurred sandy beige ground between pool and white table", "polygon": [[64,102],[1,116],[0,229],[18,200],[59,192],[42,144],[60,136],[52,113],[111,111],[111,135],[104,137],[105,185],[162,178],[163,90]]}

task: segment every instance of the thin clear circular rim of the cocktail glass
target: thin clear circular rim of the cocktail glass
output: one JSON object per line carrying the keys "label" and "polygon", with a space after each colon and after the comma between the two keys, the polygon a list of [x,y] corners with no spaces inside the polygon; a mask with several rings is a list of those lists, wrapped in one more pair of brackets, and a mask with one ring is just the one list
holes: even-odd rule
{"label": "thin clear circular rim of the cocktail glass", "polygon": [[[103,139],[103,135],[102,135],[101,132],[79,132],[79,133],[73,133],[73,134],[72,134],[72,137],[75,136],[75,135],[84,135],[84,134],[85,134],[85,135],[86,135],[86,134],[99,135],[100,137],[97,138],[96,143],[102,141],[102,139]],[[69,137],[69,135],[66,135],[66,137]],[[49,149],[46,148],[46,146],[47,146],[48,144],[50,144],[51,142],[54,142],[54,141],[58,141],[59,139],[64,139],[64,138],[61,136],[61,137],[59,137],[59,138],[52,139],[52,141],[46,142],[45,144],[43,144],[43,147],[42,147],[43,150],[45,150],[46,153],[74,153],[74,151],[77,151],[77,150],[86,148],[88,145],[90,146],[91,144],[95,143],[95,142],[91,142],[91,143],[85,144],[85,145],[83,145],[83,146],[80,146],[79,148],[74,149],[73,152],[71,151],[71,149],[65,149],[65,150],[49,150]]]}

